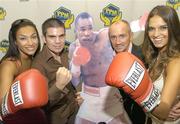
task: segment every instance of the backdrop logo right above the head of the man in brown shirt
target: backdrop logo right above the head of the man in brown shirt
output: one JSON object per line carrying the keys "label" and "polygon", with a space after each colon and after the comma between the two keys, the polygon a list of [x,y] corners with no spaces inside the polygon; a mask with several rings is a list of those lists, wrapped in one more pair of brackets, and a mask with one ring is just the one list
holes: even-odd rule
{"label": "backdrop logo right above the head of the man in brown shirt", "polygon": [[53,17],[61,20],[64,23],[66,29],[71,28],[71,24],[74,21],[74,15],[71,14],[71,11],[69,9],[64,7],[59,7],[54,12]]}

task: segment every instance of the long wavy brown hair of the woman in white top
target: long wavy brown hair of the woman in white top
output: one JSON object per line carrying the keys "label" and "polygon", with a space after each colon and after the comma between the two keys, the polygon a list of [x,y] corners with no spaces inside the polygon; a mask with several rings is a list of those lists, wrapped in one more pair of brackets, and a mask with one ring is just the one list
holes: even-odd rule
{"label": "long wavy brown hair of the woman in white top", "polygon": [[[168,26],[168,44],[166,50],[159,53],[158,49],[151,42],[148,30],[149,20],[153,16],[160,16]],[[174,58],[179,57],[180,54],[180,22],[177,12],[168,6],[156,6],[149,13],[147,23],[145,26],[143,54],[145,60],[149,64],[149,73],[152,80],[156,80],[166,68],[168,62]]]}

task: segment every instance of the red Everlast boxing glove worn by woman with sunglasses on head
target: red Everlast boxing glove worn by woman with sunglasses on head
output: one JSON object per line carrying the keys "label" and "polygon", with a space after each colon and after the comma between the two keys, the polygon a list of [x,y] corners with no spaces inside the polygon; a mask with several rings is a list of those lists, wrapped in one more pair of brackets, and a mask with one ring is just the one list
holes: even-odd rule
{"label": "red Everlast boxing glove worn by woman with sunglasses on head", "polygon": [[2,101],[3,117],[21,109],[41,107],[48,102],[46,78],[36,69],[16,77]]}

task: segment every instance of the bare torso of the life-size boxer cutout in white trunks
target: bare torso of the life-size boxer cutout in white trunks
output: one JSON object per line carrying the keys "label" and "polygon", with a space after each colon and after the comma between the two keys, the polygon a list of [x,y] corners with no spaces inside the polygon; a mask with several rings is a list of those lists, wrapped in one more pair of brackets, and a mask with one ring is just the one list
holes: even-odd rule
{"label": "bare torso of the life-size boxer cutout in white trunks", "polygon": [[113,50],[110,46],[105,46],[99,51],[95,44],[86,47],[91,53],[91,60],[82,67],[84,83],[95,87],[106,86],[104,79],[113,58]]}

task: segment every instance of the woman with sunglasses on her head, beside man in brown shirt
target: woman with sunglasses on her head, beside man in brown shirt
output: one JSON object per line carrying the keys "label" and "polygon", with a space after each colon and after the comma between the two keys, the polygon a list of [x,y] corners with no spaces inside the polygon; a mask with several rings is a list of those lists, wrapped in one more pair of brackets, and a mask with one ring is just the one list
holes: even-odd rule
{"label": "woman with sunglasses on her head, beside man in brown shirt", "polygon": [[[35,24],[28,19],[14,21],[9,30],[8,51],[0,61],[0,103],[2,105],[14,79],[30,69],[33,57],[39,50],[40,38]],[[4,113],[3,108],[0,110]],[[3,117],[3,121],[6,124],[46,123],[40,108],[19,110]]]}

